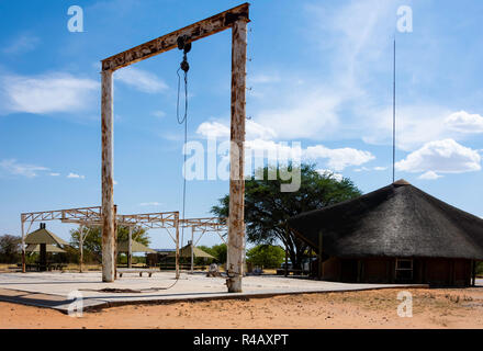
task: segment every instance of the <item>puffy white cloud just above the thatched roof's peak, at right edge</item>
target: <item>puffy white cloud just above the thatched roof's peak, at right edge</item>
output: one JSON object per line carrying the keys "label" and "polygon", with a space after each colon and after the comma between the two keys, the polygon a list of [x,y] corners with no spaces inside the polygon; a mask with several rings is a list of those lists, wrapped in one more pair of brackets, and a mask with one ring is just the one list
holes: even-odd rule
{"label": "puffy white cloud just above the thatched roof's peak, at right edge", "polygon": [[481,157],[476,150],[464,147],[453,139],[429,141],[405,159],[396,162],[400,171],[462,173],[479,171]]}

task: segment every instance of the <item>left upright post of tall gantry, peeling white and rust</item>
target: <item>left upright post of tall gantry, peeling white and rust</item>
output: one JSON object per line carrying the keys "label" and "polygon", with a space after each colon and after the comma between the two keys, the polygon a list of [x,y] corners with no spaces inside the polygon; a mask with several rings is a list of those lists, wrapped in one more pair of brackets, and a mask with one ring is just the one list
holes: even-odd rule
{"label": "left upright post of tall gantry, peeling white and rust", "polygon": [[115,279],[113,87],[112,71],[102,71],[102,281]]}

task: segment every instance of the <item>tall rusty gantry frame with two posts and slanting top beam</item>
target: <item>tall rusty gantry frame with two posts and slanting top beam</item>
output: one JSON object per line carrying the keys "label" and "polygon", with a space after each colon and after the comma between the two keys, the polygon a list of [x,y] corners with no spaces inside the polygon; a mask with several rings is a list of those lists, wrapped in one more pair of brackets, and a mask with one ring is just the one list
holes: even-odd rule
{"label": "tall rusty gantry frame with two posts and slanting top beam", "polygon": [[229,218],[227,246],[228,292],[242,292],[245,252],[244,224],[244,141],[245,90],[248,3],[221,12],[181,30],[144,43],[102,60],[102,281],[115,279],[115,224],[114,168],[113,168],[113,72],[178,47],[178,38],[184,36],[192,43],[218,32],[232,29],[232,118],[231,118],[231,174]]}

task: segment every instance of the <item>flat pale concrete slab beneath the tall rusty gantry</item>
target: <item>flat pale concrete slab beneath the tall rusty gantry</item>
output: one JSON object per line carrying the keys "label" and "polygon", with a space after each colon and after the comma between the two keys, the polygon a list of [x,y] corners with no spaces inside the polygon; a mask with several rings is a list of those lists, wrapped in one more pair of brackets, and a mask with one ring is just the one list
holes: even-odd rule
{"label": "flat pale concrete slab beneath the tall rusty gantry", "polygon": [[349,284],[293,279],[277,275],[244,278],[244,292],[228,294],[224,278],[205,273],[157,272],[151,278],[125,274],[113,283],[102,283],[101,273],[0,273],[0,301],[55,308],[67,313],[74,299],[71,292],[82,296],[83,308],[102,308],[122,304],[169,303],[179,301],[254,298],[285,294],[347,292],[374,288],[418,287],[407,284]]}

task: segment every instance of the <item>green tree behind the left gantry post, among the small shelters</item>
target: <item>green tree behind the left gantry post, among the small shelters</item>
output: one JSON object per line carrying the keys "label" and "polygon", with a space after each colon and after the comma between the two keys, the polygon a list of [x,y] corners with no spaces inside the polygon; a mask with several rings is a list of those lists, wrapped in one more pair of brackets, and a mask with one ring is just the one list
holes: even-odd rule
{"label": "green tree behind the left gantry post, among the small shelters", "polygon": [[[86,234],[86,228],[83,228]],[[83,250],[86,253],[91,253],[93,258],[101,263],[102,262],[102,234],[100,227],[89,228],[87,237],[83,239]],[[80,228],[70,230],[70,245],[79,248],[79,233]],[[127,241],[130,236],[130,228],[124,226],[117,227],[117,241]],[[143,245],[149,246],[149,237],[146,229],[135,226],[133,227],[133,240],[136,240]],[[86,256],[87,258],[87,256]]]}

